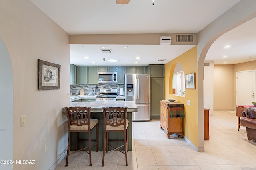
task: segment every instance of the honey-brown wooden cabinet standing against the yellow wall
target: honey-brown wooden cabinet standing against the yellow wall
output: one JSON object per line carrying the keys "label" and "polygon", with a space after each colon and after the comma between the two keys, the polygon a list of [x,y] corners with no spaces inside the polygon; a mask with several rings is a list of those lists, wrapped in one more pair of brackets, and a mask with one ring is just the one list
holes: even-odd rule
{"label": "honey-brown wooden cabinet standing against the yellow wall", "polygon": [[166,136],[169,138],[170,135],[176,133],[183,138],[183,118],[182,117],[170,117],[170,104],[168,100],[161,100],[161,117],[160,117],[160,128],[164,129]]}

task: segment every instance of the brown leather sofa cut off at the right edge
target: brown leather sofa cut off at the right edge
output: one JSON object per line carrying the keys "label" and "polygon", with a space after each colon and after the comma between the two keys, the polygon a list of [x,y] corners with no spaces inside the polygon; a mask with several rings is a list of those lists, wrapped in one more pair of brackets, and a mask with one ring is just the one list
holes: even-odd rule
{"label": "brown leather sofa cut off at the right edge", "polygon": [[248,107],[242,111],[240,123],[246,128],[248,140],[256,141],[256,107]]}

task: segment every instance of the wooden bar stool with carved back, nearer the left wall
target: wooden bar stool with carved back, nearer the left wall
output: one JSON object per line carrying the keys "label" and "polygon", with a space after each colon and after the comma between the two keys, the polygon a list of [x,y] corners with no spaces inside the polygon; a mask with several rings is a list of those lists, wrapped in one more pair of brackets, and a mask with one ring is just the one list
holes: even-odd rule
{"label": "wooden bar stool with carved back, nearer the left wall", "polygon": [[[91,119],[91,108],[90,107],[65,107],[66,114],[68,117],[68,150],[67,150],[67,156],[66,156],[66,165],[68,166],[68,156],[69,150],[70,150],[70,133],[76,132],[76,152],[84,150],[89,154],[89,165],[92,166],[92,147],[96,145],[96,152],[98,152],[98,126],[99,126],[99,120],[98,119]],[[91,140],[91,130],[96,126],[96,140]],[[80,140],[80,141],[88,141],[89,146],[82,147],[79,145],[78,139],[77,139],[77,133],[78,132],[88,132],[88,140]],[[91,141],[94,141],[95,143],[91,145]],[[82,147],[82,149],[77,149],[79,147]],[[89,152],[88,150],[89,149]],[[76,153],[76,152],[72,152]]]}

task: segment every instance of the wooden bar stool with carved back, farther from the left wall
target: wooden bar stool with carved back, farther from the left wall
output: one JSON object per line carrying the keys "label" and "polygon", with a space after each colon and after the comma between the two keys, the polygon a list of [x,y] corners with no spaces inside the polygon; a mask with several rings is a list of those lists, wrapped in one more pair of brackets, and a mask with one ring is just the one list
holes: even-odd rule
{"label": "wooden bar stool with carved back, farther from the left wall", "polygon": [[[104,119],[104,145],[103,145],[103,156],[102,156],[102,166],[104,166],[105,151],[108,152],[108,146],[114,148],[111,151],[118,150],[125,154],[125,162],[127,163],[127,150],[128,150],[128,123],[127,117],[127,107],[103,107],[103,119]],[[122,132],[124,133],[124,140],[108,140],[109,132]],[[113,141],[124,141],[124,145],[119,147],[114,147],[110,144]],[[124,152],[120,150],[124,146]]]}

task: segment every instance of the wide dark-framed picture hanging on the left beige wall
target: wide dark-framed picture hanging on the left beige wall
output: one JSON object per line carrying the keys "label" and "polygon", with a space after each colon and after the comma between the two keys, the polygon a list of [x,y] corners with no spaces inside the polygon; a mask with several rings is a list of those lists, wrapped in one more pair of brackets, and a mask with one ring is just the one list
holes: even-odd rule
{"label": "wide dark-framed picture hanging on the left beige wall", "polygon": [[37,90],[60,88],[60,65],[38,59]]}

